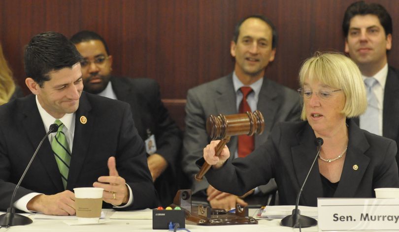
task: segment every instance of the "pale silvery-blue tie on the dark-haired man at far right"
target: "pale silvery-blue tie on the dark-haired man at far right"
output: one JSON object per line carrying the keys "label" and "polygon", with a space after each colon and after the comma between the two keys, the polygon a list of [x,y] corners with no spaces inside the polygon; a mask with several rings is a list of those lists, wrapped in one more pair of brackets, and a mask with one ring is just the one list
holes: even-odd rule
{"label": "pale silvery-blue tie on the dark-haired man at far right", "polygon": [[365,79],[365,86],[367,92],[367,110],[362,116],[361,128],[374,134],[379,134],[379,121],[378,121],[378,101],[377,97],[373,92],[373,87],[377,85],[378,82],[373,77],[368,77]]}

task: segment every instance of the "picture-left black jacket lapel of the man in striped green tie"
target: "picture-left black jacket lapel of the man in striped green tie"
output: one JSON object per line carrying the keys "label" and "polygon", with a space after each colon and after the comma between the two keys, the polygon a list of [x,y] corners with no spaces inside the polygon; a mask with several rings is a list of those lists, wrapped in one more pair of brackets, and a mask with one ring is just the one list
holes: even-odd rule
{"label": "picture-left black jacket lapel of the man in striped green tie", "polygon": [[[40,143],[40,140],[46,134],[46,131],[44,130],[43,120],[41,119],[41,116],[37,109],[35,95],[32,94],[28,96],[28,99],[25,103],[26,104],[24,104],[22,108],[24,115],[22,119],[22,124],[29,137],[29,140],[31,141],[33,149],[36,149],[36,147]],[[32,156],[33,154],[29,155]],[[51,145],[48,139],[44,140],[39,151],[37,152],[37,157],[35,159],[37,159],[37,161],[39,161],[43,165],[43,168],[46,170],[49,178],[56,186],[58,192],[64,191],[64,186],[61,181],[60,170],[58,169],[53,150],[51,149]]]}

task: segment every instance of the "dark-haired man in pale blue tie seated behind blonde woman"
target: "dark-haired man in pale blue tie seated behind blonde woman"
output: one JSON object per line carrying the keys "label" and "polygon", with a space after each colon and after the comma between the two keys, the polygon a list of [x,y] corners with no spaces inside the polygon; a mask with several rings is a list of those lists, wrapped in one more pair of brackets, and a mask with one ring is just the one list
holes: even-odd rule
{"label": "dark-haired man in pale blue tie seated behind blonde woman", "polygon": [[[359,66],[363,79],[374,80],[367,92],[368,107],[356,122],[360,128],[393,139],[399,145],[399,73],[388,66],[392,19],[380,4],[358,1],[345,11],[342,29],[345,52]],[[376,104],[373,106],[372,100]],[[399,155],[396,157],[399,162]]]}

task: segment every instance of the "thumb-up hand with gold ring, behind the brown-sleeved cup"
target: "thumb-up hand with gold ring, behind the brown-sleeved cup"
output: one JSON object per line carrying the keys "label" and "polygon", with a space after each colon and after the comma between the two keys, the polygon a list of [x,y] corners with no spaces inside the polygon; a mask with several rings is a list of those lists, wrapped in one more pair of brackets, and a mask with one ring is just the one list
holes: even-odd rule
{"label": "thumb-up hand with gold ring, behind the brown-sleeved cup", "polygon": [[128,203],[129,189],[124,178],[119,176],[116,170],[115,157],[108,159],[109,176],[100,176],[98,182],[93,183],[93,187],[103,188],[102,200],[113,205]]}

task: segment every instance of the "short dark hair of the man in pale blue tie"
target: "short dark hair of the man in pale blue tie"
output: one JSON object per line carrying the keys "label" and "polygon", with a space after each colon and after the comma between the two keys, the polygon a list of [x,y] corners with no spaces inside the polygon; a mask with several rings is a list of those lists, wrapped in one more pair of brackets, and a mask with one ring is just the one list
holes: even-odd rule
{"label": "short dark hair of the man in pale blue tie", "polygon": [[392,34],[392,19],[384,6],[378,3],[369,3],[365,1],[357,1],[352,3],[345,11],[342,22],[342,30],[345,37],[348,36],[351,19],[356,15],[375,15],[380,20],[380,24],[385,30],[385,35]]}

